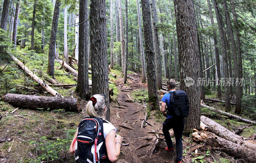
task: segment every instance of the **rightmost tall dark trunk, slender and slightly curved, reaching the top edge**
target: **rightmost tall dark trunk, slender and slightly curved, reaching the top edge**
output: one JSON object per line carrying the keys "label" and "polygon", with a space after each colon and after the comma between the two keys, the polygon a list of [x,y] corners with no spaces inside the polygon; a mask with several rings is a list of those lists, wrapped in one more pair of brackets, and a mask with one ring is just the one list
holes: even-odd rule
{"label": "rightmost tall dark trunk, slender and slightly curved, reaching the top edge", "polygon": [[[240,41],[240,33],[238,30],[238,22],[236,18],[236,8],[234,1],[231,1],[231,11],[233,13],[233,18],[234,18],[234,31],[236,35],[236,43],[237,43],[237,61],[238,61],[238,71],[239,71],[239,79],[243,78],[243,68],[242,68],[242,50],[241,50],[241,41]],[[243,86],[238,86],[240,87],[240,98],[243,96]]]}

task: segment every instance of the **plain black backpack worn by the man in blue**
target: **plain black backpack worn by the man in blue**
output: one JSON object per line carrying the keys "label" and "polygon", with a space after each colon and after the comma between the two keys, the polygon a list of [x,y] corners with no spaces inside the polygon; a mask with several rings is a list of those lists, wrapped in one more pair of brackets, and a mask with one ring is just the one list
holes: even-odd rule
{"label": "plain black backpack worn by the man in blue", "polygon": [[187,117],[189,114],[188,95],[183,90],[169,92],[170,108],[168,107],[167,114],[172,117]]}

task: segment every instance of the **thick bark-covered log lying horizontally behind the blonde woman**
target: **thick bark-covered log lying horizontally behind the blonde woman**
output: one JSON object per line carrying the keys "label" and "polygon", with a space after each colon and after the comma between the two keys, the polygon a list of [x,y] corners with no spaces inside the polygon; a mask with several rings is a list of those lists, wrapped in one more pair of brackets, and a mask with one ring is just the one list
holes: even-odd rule
{"label": "thick bark-covered log lying horizontally behind the blonde woman", "polygon": [[15,106],[28,109],[65,109],[66,111],[78,111],[76,98],[61,98],[50,96],[31,96],[7,93],[2,97],[4,101]]}

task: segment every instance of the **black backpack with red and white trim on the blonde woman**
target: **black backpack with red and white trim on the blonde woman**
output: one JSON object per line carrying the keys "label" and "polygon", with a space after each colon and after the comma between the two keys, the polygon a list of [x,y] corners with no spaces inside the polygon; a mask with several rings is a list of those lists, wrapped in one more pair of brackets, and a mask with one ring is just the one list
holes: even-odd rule
{"label": "black backpack with red and white trim on the blonde woman", "polygon": [[[76,163],[109,163],[101,118],[87,117],[78,124]],[[74,141],[75,142],[75,141]]]}

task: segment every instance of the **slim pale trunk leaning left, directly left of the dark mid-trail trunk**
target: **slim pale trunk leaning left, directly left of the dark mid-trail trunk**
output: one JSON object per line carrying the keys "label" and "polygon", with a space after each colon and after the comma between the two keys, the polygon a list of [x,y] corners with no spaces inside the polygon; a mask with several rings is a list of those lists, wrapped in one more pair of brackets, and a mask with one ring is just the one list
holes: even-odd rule
{"label": "slim pale trunk leaning left, directly left of the dark mid-trail trunk", "polygon": [[140,3],[137,1],[137,14],[138,14],[138,24],[139,24],[139,40],[140,40],[140,61],[141,61],[141,82],[146,82],[146,64],[145,64],[145,56],[144,56],[144,48],[142,41],[142,29],[141,29],[141,13],[140,13]]}

